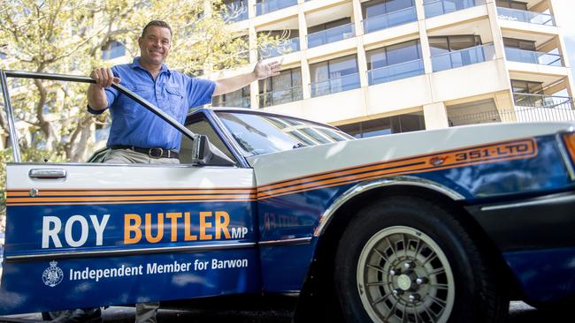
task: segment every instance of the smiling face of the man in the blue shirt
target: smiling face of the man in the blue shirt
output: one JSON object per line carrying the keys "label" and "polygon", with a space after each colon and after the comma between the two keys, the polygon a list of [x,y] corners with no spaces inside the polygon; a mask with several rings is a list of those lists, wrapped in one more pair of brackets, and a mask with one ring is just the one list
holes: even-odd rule
{"label": "smiling face of the man in the blue shirt", "polygon": [[172,47],[170,29],[163,26],[149,26],[146,34],[138,39],[140,59],[143,63],[160,65]]}

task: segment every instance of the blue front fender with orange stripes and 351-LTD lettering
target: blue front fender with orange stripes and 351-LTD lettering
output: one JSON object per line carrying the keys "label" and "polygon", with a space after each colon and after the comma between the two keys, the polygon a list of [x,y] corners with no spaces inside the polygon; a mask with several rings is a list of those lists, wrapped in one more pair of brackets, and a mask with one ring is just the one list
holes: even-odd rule
{"label": "blue front fender with orange stripes and 351-LTD lettering", "polygon": [[[506,146],[511,150],[516,148],[510,147],[521,148],[510,152],[504,148]],[[496,156],[498,151],[504,155]],[[314,159],[312,150],[306,153],[309,159]],[[343,151],[340,153],[344,154]],[[258,162],[255,164],[256,174],[265,176],[260,173],[261,169],[258,169],[260,161],[266,169],[269,167],[269,162],[276,169],[291,171],[290,162],[281,162],[284,159],[277,156],[273,159],[276,162],[263,162],[265,157],[258,157]],[[333,154],[331,158],[337,160],[339,155]],[[458,158],[462,160],[457,161]],[[330,164],[329,161],[330,158],[324,160],[326,169]],[[415,184],[425,180],[426,183],[448,187],[459,193],[466,203],[507,199],[513,194],[542,194],[565,190],[572,187],[572,183],[561,161],[562,156],[555,136],[542,136],[536,139],[509,140],[358,165],[353,168],[334,169],[306,177],[258,185],[260,237],[262,241],[313,237],[319,223],[326,221],[322,214],[325,214],[336,199],[358,185],[381,178],[393,179],[402,176],[404,181]],[[482,180],[477,181],[477,178]],[[264,274],[265,290],[280,291],[293,288],[297,283],[301,284],[304,275],[298,277],[295,276],[298,271],[278,267],[278,261],[280,259],[289,259],[289,263],[301,261],[298,259],[311,261],[316,243],[317,240],[314,238],[307,248],[299,246],[298,251],[293,252],[293,256],[279,248],[262,250],[262,272],[274,273]],[[295,247],[286,248],[294,248],[295,251]],[[287,276],[289,279],[285,278]]]}

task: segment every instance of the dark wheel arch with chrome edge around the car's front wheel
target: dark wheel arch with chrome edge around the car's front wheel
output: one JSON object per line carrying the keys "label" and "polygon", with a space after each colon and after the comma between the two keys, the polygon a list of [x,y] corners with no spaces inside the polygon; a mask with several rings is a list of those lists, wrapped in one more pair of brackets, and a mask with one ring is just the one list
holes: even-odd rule
{"label": "dark wheel arch with chrome edge around the car's front wheel", "polygon": [[[334,318],[341,317],[339,310],[335,311],[336,307],[339,308],[339,304],[335,301],[336,296],[331,283],[334,279],[335,252],[340,237],[359,209],[373,200],[393,196],[426,199],[457,214],[466,229],[471,231],[472,237],[480,241],[484,252],[489,254],[495,265],[505,273],[502,282],[510,282],[510,290],[513,294],[520,295],[518,283],[502,259],[501,252],[497,250],[479,223],[464,209],[463,195],[432,181],[415,177],[392,177],[357,184],[336,199],[322,214],[319,225],[314,231],[318,244],[310,271],[303,283],[296,318],[301,315],[309,319],[313,312],[321,312],[318,311],[318,306],[325,306],[333,313]],[[328,294],[323,295],[324,293]]]}

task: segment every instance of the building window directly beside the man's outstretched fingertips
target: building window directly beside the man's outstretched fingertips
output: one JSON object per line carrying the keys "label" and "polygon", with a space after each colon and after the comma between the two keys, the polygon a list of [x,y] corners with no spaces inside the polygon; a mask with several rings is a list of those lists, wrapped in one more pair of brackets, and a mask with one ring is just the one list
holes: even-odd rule
{"label": "building window directly beside the man's outstretched fingertips", "polygon": [[259,107],[302,100],[300,68],[281,71],[280,75],[259,80]]}

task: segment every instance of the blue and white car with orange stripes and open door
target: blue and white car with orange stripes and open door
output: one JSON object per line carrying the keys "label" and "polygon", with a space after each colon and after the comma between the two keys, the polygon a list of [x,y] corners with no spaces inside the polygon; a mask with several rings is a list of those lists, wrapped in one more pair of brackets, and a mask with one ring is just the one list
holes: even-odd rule
{"label": "blue and white car with orange stripes and open door", "polygon": [[182,131],[179,165],[7,166],[0,313],[291,294],[302,321],[497,322],[575,296],[573,123],[353,139],[141,102]]}

